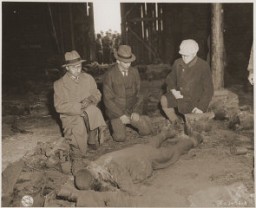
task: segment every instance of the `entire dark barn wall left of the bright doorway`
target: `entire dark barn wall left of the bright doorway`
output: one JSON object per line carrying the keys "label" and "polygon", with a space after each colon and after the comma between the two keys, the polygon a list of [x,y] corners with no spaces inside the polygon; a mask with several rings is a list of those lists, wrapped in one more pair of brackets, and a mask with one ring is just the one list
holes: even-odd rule
{"label": "entire dark barn wall left of the bright doorway", "polygon": [[59,68],[73,49],[94,59],[92,3],[3,2],[2,9],[4,74],[35,77]]}

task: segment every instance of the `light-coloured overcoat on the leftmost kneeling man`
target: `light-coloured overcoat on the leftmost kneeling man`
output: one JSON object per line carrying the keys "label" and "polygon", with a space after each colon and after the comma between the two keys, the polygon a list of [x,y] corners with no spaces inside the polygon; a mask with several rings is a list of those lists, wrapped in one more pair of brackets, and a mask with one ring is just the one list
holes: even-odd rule
{"label": "light-coloured overcoat on the leftmost kneeling man", "polygon": [[[87,73],[81,73],[79,80],[72,79],[67,73],[54,83],[54,106],[60,113],[64,128],[68,128],[74,120],[72,117],[81,116],[81,101],[93,95],[99,102],[101,93],[93,77]],[[105,125],[101,111],[91,105],[86,108],[90,130]]]}

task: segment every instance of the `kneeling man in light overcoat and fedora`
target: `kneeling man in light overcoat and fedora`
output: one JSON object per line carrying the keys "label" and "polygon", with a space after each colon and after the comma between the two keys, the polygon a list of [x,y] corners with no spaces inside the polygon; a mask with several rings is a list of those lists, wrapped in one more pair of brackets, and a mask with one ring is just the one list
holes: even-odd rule
{"label": "kneeling man in light overcoat and fedora", "polygon": [[[97,135],[102,136],[106,126],[100,109],[97,107],[101,93],[94,78],[82,72],[82,60],[77,51],[65,54],[67,73],[54,82],[54,106],[60,113],[64,136],[72,150],[86,154],[87,142],[94,149]],[[91,135],[88,138],[88,133]],[[101,139],[101,138],[99,138]]]}

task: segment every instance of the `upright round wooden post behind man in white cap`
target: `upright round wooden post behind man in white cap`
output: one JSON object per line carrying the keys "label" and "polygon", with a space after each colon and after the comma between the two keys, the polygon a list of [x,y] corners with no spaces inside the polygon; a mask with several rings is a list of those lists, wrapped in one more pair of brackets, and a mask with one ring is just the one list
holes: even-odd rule
{"label": "upright round wooden post behind man in white cap", "polygon": [[211,69],[215,90],[224,87],[224,40],[222,4],[212,4]]}

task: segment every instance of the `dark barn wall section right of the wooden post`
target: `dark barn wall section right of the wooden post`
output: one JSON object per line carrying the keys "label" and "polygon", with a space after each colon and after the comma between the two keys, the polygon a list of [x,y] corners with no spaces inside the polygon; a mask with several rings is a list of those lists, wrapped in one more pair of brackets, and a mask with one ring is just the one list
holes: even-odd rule
{"label": "dark barn wall section right of the wooden post", "polygon": [[247,83],[247,65],[253,42],[253,4],[223,4],[226,79],[236,75]]}

